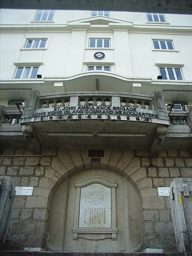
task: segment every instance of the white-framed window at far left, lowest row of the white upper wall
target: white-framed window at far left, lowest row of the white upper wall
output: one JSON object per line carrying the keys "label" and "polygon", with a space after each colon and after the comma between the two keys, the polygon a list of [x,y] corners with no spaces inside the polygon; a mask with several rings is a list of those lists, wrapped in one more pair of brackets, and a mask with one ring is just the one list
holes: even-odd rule
{"label": "white-framed window at far left, lowest row of the white upper wall", "polygon": [[38,66],[24,66],[24,67],[17,67],[15,72],[15,79],[32,79],[36,78],[38,73]]}

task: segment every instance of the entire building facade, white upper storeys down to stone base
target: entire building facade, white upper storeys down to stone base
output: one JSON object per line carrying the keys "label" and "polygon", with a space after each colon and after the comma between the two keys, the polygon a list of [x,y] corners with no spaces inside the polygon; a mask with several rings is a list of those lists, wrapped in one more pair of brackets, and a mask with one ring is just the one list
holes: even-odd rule
{"label": "entire building facade, white upper storeys down to stone base", "polygon": [[0,175],[32,189],[16,195],[7,238],[25,250],[177,251],[157,188],[192,177],[192,15],[0,19]]}

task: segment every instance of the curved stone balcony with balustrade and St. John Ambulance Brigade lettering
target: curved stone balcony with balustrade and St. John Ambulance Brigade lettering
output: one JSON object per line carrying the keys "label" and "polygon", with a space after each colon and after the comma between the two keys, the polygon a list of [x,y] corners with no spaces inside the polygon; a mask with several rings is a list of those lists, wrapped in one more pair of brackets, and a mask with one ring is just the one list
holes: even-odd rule
{"label": "curved stone balcony with balustrade and St. John Ambulance Brigade lettering", "polygon": [[[3,147],[141,148],[157,155],[161,148],[192,144],[191,112],[167,115],[163,95],[116,92],[29,94],[26,108],[1,106],[0,143]],[[14,121],[13,121],[14,120]],[[178,121],[179,120],[179,121]]]}

